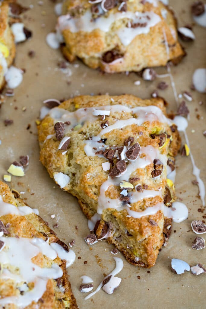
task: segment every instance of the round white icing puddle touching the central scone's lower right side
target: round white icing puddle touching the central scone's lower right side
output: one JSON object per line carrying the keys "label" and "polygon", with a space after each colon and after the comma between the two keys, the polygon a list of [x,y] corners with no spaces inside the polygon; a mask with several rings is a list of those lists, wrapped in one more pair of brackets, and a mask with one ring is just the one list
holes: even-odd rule
{"label": "round white icing puddle touching the central scone's lower right side", "polygon": [[173,202],[172,207],[164,206],[164,216],[180,223],[188,218],[187,206],[181,202]]}

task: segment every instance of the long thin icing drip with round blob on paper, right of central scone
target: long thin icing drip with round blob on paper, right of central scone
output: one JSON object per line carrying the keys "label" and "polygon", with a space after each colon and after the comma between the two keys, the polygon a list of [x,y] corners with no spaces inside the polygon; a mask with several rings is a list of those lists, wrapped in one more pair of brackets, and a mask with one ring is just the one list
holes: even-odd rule
{"label": "long thin icing drip with round blob on paper, right of central scone", "polygon": [[194,157],[193,157],[192,152],[191,152],[189,139],[188,139],[188,136],[187,136],[187,133],[186,133],[186,128],[187,128],[187,125],[188,125],[187,120],[182,116],[175,116],[174,117],[174,123],[177,125],[178,130],[182,131],[184,133],[187,146],[190,149],[190,159],[191,159],[191,163],[192,163],[192,167],[193,167],[192,174],[196,177],[196,180],[198,182],[199,195],[200,195],[200,198],[201,198],[201,201],[202,201],[202,205],[205,206],[205,201],[204,201],[204,199],[205,199],[205,186],[204,186],[204,182],[200,178],[200,169],[196,166]]}

